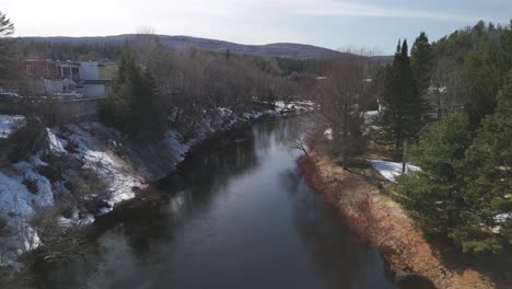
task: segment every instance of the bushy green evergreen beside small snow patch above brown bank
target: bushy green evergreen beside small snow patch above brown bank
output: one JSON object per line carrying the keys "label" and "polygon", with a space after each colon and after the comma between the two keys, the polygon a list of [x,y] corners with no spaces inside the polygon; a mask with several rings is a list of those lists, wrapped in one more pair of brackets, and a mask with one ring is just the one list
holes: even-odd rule
{"label": "bushy green evergreen beside small snow patch above brown bank", "polygon": [[467,118],[452,114],[420,134],[409,149],[410,160],[421,171],[397,178],[400,204],[424,228],[444,236],[459,223],[458,210],[464,207],[458,172],[465,151],[472,143]]}

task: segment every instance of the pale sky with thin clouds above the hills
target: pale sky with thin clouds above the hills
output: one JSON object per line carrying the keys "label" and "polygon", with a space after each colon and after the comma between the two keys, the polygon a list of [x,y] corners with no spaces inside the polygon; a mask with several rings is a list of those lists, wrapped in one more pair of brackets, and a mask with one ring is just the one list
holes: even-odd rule
{"label": "pale sky with thin clouds above the hills", "polygon": [[151,27],[242,44],[303,43],[393,54],[479,20],[508,24],[512,0],[0,0],[15,36],[106,36]]}

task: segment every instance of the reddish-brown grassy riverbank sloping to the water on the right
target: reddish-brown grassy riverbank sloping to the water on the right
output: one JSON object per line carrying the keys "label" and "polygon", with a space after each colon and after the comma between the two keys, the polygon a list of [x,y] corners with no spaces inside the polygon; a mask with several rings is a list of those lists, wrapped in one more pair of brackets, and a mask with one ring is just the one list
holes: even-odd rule
{"label": "reddish-brown grassy riverbank sloping to the water on the right", "polygon": [[453,268],[442,261],[404,210],[386,196],[382,175],[361,161],[344,171],[337,159],[319,152],[299,160],[307,184],[336,207],[361,242],[376,246],[396,279],[422,276],[437,288],[496,288],[470,268]]}

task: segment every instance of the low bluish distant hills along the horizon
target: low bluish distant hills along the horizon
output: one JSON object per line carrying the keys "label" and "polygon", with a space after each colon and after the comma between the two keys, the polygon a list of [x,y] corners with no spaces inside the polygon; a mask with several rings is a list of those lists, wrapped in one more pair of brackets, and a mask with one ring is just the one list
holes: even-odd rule
{"label": "low bluish distant hills along the horizon", "polygon": [[[135,37],[133,34],[124,34],[104,37],[21,37],[21,41],[70,43],[70,44],[123,44],[126,39]],[[207,51],[223,53],[230,50],[233,54],[245,54],[264,57],[283,57],[283,58],[322,58],[335,50],[305,44],[294,43],[275,43],[267,45],[243,45],[223,41],[197,38],[190,36],[168,36],[159,35],[160,41],[171,50],[182,47],[194,46]]]}

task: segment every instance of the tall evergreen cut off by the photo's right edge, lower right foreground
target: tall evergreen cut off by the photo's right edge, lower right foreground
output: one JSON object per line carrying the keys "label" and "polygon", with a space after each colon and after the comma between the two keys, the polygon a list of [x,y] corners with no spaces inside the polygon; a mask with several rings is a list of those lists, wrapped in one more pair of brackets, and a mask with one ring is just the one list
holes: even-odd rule
{"label": "tall evergreen cut off by the photo's right edge, lower right foreground", "polygon": [[452,238],[465,252],[500,253],[512,244],[512,70],[467,151],[464,224]]}

